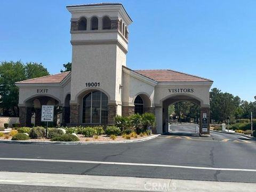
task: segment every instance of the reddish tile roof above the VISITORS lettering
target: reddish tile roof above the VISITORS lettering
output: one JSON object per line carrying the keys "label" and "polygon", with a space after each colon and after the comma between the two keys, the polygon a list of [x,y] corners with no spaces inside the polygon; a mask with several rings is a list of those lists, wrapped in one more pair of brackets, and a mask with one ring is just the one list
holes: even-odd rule
{"label": "reddish tile roof above the VISITORS lettering", "polygon": [[135,73],[153,79],[157,82],[212,82],[210,79],[181,73],[170,69],[134,70]]}

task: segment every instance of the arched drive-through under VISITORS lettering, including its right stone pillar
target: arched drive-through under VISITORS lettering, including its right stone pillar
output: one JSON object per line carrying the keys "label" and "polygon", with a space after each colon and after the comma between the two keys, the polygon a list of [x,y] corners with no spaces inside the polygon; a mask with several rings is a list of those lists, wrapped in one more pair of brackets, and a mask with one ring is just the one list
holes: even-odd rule
{"label": "arched drive-through under VISITORS lettering, including its right stone pillar", "polygon": [[163,101],[163,133],[210,134],[210,107],[190,95],[174,95]]}

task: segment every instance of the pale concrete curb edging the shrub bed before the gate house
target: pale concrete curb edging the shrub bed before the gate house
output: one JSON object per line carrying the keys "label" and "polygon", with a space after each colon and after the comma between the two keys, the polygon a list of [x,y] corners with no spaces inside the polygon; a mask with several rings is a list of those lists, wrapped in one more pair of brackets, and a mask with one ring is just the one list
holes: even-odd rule
{"label": "pale concrete curb edging the shrub bed before the gate house", "polygon": [[62,141],[12,141],[12,140],[0,140],[0,143],[15,143],[15,144],[37,144],[37,145],[98,145],[98,144],[115,144],[115,143],[132,143],[143,142],[150,139],[157,138],[161,134],[151,135],[150,137],[137,139],[137,140],[125,140],[125,141],[77,141],[77,142],[62,142]]}

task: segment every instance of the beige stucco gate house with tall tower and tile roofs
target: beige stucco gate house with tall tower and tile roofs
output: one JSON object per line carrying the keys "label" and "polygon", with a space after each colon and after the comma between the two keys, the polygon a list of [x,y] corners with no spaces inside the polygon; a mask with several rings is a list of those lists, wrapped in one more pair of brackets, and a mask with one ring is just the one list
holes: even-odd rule
{"label": "beige stucco gate house with tall tower and tile roofs", "polygon": [[126,67],[131,18],[119,3],[67,6],[71,13],[72,71],[17,82],[20,123],[41,124],[41,106],[62,108],[61,123],[111,124],[116,115],[151,112],[156,133],[167,131],[167,108],[191,101],[201,108],[201,134],[210,134],[212,81],[173,70]]}

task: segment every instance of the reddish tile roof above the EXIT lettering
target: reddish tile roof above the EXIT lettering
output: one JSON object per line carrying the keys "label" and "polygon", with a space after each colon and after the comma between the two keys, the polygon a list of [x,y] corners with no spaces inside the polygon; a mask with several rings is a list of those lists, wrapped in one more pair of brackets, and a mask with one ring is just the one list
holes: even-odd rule
{"label": "reddish tile roof above the EXIT lettering", "polygon": [[65,79],[70,71],[55,74],[55,75],[48,75],[44,77],[37,77],[33,79],[28,79],[25,81],[16,82],[17,84],[34,84],[34,83],[61,83],[63,79]]}

